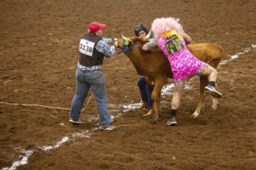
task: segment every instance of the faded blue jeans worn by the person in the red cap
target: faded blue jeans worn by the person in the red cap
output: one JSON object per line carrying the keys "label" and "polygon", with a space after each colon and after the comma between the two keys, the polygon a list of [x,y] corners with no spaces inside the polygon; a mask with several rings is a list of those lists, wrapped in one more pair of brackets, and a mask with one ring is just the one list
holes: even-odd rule
{"label": "faded blue jeans worn by the person in the red cap", "polygon": [[92,88],[92,93],[97,101],[99,111],[99,123],[106,127],[111,123],[111,115],[107,107],[105,79],[102,70],[83,71],[77,68],[76,71],[76,90],[71,103],[71,112],[69,117],[78,120],[81,114],[81,107],[85,102],[88,91]]}

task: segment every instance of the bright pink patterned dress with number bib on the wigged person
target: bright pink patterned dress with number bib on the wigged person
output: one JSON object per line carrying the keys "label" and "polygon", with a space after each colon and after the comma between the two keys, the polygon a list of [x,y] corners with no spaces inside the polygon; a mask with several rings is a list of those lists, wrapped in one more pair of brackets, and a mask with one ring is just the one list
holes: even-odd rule
{"label": "bright pink patterned dress with number bib on the wigged person", "polygon": [[174,80],[181,85],[192,74],[202,74],[208,64],[200,61],[189,52],[185,40],[175,30],[164,32],[157,37],[158,46],[167,56]]}

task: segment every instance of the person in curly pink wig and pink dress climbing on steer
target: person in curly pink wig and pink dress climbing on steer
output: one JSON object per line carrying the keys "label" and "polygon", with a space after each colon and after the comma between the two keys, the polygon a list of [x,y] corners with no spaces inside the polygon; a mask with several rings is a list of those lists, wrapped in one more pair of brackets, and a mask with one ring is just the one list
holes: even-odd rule
{"label": "person in curly pink wig and pink dress climbing on steer", "polygon": [[167,122],[169,126],[177,124],[177,110],[185,87],[185,81],[190,76],[208,76],[209,83],[205,87],[206,93],[210,93],[216,98],[222,97],[222,93],[215,87],[218,76],[217,70],[213,66],[200,61],[189,52],[187,44],[192,39],[184,32],[182,25],[178,21],[179,19],[172,17],[154,19],[151,30],[155,39],[143,46],[143,49],[147,51],[157,45],[171,65],[170,69],[174,75],[175,89],[171,100],[171,117]]}

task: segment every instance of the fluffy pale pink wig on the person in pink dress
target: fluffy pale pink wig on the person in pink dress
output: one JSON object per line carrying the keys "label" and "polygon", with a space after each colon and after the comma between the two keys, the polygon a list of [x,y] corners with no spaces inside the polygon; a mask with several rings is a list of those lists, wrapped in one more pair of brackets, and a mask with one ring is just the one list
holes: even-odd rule
{"label": "fluffy pale pink wig on the person in pink dress", "polygon": [[171,29],[183,31],[182,25],[178,23],[178,21],[179,19],[172,17],[154,19],[151,25],[151,30],[154,33],[154,36],[160,36],[162,33],[168,32]]}

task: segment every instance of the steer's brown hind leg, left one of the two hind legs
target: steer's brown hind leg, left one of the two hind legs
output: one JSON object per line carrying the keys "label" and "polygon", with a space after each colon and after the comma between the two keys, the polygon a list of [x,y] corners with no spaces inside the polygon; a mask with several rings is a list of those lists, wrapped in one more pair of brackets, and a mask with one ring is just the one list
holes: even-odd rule
{"label": "steer's brown hind leg, left one of the two hind legs", "polygon": [[207,76],[199,76],[200,77],[200,95],[199,95],[199,103],[197,104],[196,110],[194,114],[191,115],[192,118],[199,117],[203,101],[206,98],[206,93],[205,93],[205,87],[208,84],[208,77]]}

